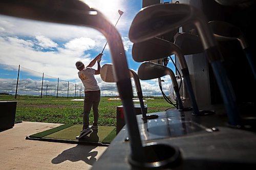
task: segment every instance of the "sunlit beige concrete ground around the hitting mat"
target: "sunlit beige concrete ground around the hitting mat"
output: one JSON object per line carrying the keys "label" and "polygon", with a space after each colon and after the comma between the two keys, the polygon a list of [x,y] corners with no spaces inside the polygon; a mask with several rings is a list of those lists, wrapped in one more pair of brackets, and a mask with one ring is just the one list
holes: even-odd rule
{"label": "sunlit beige concrete ground around the hitting mat", "polygon": [[0,131],[0,169],[90,169],[107,147],[25,139],[59,125],[22,122]]}

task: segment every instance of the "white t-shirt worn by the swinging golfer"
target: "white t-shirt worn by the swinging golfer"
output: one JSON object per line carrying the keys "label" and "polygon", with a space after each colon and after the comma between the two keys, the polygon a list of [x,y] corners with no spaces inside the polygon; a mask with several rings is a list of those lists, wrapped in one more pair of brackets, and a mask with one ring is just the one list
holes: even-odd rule
{"label": "white t-shirt worn by the swinging golfer", "polygon": [[78,72],[78,76],[81,79],[84,91],[96,91],[100,90],[99,85],[94,77],[95,69],[87,67]]}

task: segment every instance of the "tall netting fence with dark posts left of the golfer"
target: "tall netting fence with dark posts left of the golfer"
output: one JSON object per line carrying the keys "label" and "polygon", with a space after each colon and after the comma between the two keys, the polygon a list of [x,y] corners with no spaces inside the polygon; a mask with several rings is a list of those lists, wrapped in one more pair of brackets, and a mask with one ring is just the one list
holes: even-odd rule
{"label": "tall netting fence with dark posts left of the golfer", "polygon": [[84,96],[81,84],[61,80],[22,66],[0,64],[0,94],[74,97]]}

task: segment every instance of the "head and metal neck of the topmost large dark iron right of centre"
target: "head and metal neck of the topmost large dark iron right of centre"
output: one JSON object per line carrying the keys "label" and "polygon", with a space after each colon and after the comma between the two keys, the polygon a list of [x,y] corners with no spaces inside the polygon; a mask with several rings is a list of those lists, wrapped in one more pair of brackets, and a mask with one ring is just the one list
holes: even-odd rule
{"label": "head and metal neck of the topmost large dark iron right of centre", "polygon": [[129,38],[138,43],[188,24],[196,26],[204,50],[216,46],[205,15],[187,4],[156,4],[141,9],[132,22]]}

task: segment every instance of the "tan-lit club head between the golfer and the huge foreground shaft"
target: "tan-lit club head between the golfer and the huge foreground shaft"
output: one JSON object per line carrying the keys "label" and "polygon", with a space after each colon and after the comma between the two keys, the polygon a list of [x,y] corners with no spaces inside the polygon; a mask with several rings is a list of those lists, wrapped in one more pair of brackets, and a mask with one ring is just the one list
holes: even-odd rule
{"label": "tan-lit club head between the golfer and the huge foreground shaft", "polygon": [[104,64],[100,69],[100,77],[104,82],[116,83],[116,76],[113,64]]}

